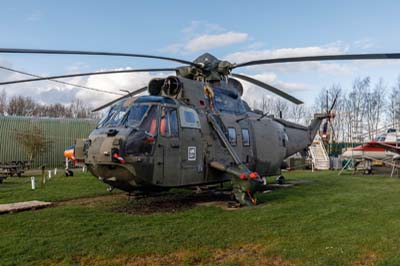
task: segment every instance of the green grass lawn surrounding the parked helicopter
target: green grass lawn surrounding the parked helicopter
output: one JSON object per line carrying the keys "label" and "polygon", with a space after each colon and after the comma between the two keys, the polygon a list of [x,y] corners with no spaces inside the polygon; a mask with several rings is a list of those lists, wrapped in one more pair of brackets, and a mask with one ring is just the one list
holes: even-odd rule
{"label": "green grass lawn surrounding the parked helicopter", "polygon": [[[116,210],[132,203],[110,197],[1,215],[0,265],[400,265],[399,179],[329,171],[286,177],[310,182],[260,193],[258,206],[234,211],[128,214]],[[88,175],[56,177],[34,192],[7,185],[14,180],[0,185],[2,203],[103,195],[106,188]]]}

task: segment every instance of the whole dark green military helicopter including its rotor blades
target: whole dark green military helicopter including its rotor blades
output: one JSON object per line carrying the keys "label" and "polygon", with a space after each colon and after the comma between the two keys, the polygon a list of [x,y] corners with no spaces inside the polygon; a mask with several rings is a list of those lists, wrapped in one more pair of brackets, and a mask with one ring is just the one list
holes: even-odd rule
{"label": "whole dark green military helicopter including its rotor blades", "polygon": [[[175,72],[153,78],[93,111],[109,107],[88,138],[78,139],[74,157],[98,179],[127,192],[162,191],[232,182],[241,205],[255,205],[263,177],[279,176],[285,158],[306,154],[332,107],[308,126],[251,110],[239,80],[294,104],[303,102],[260,80],[232,71],[240,67],[327,60],[400,59],[399,53],[343,54],[260,59],[230,63],[205,53],[193,62],[164,56],[68,50],[0,48],[0,53],[142,57],[183,64],[174,68],[77,73],[0,82],[0,85],[68,77],[133,72]],[[147,91],[149,95],[137,96]]]}

